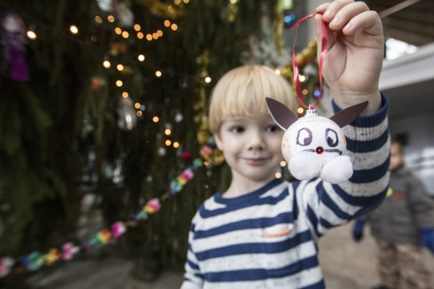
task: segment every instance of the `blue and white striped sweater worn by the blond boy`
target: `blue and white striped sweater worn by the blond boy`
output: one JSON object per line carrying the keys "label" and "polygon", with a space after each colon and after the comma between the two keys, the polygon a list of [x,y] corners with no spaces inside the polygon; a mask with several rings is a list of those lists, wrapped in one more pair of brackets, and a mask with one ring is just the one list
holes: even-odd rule
{"label": "blue and white striped sweater worn by the blond boy", "polygon": [[389,185],[383,103],[344,127],[354,168],[348,182],[273,180],[247,195],[206,200],[192,221],[181,288],[324,288],[318,238],[378,206]]}

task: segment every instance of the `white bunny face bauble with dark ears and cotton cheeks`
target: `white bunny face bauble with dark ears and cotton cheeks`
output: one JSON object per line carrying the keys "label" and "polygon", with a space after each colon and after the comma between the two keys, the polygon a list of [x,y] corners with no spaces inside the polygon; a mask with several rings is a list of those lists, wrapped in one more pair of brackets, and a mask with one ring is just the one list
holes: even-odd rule
{"label": "white bunny face bauble with dark ears and cotton cheeks", "polygon": [[341,128],[362,113],[367,101],[342,109],[331,118],[318,116],[310,107],[306,116],[297,118],[277,100],[266,100],[273,120],[285,130],[282,154],[294,178],[311,180],[319,176],[332,184],[351,178],[353,164],[349,156],[343,155],[347,141]]}

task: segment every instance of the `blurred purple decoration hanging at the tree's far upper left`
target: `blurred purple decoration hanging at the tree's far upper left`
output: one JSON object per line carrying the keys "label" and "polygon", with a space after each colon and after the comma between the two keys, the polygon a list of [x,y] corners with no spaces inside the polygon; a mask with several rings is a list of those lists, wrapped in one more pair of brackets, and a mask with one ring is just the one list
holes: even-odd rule
{"label": "blurred purple decoration hanging at the tree's far upper left", "polygon": [[1,43],[3,49],[3,72],[15,81],[29,81],[25,63],[25,26],[18,14],[7,12],[1,17]]}

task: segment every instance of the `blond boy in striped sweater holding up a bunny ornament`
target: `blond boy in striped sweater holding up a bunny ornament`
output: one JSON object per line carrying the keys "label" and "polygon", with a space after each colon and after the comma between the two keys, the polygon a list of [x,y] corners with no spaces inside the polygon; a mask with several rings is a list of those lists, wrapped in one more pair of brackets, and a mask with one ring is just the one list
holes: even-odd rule
{"label": "blond boy in striped sweater holding up a bunny ornament", "polygon": [[211,95],[209,127],[231,168],[226,191],[198,209],[189,232],[182,289],[324,288],[316,242],[382,202],[389,175],[388,102],[378,90],[384,37],[378,14],[363,2],[338,0],[316,9],[329,23],[324,79],[335,109],[369,105],[344,128],[353,177],[339,185],[320,179],[276,179],[283,131],[266,97],[296,108],[285,79],[266,67],[233,69]]}

